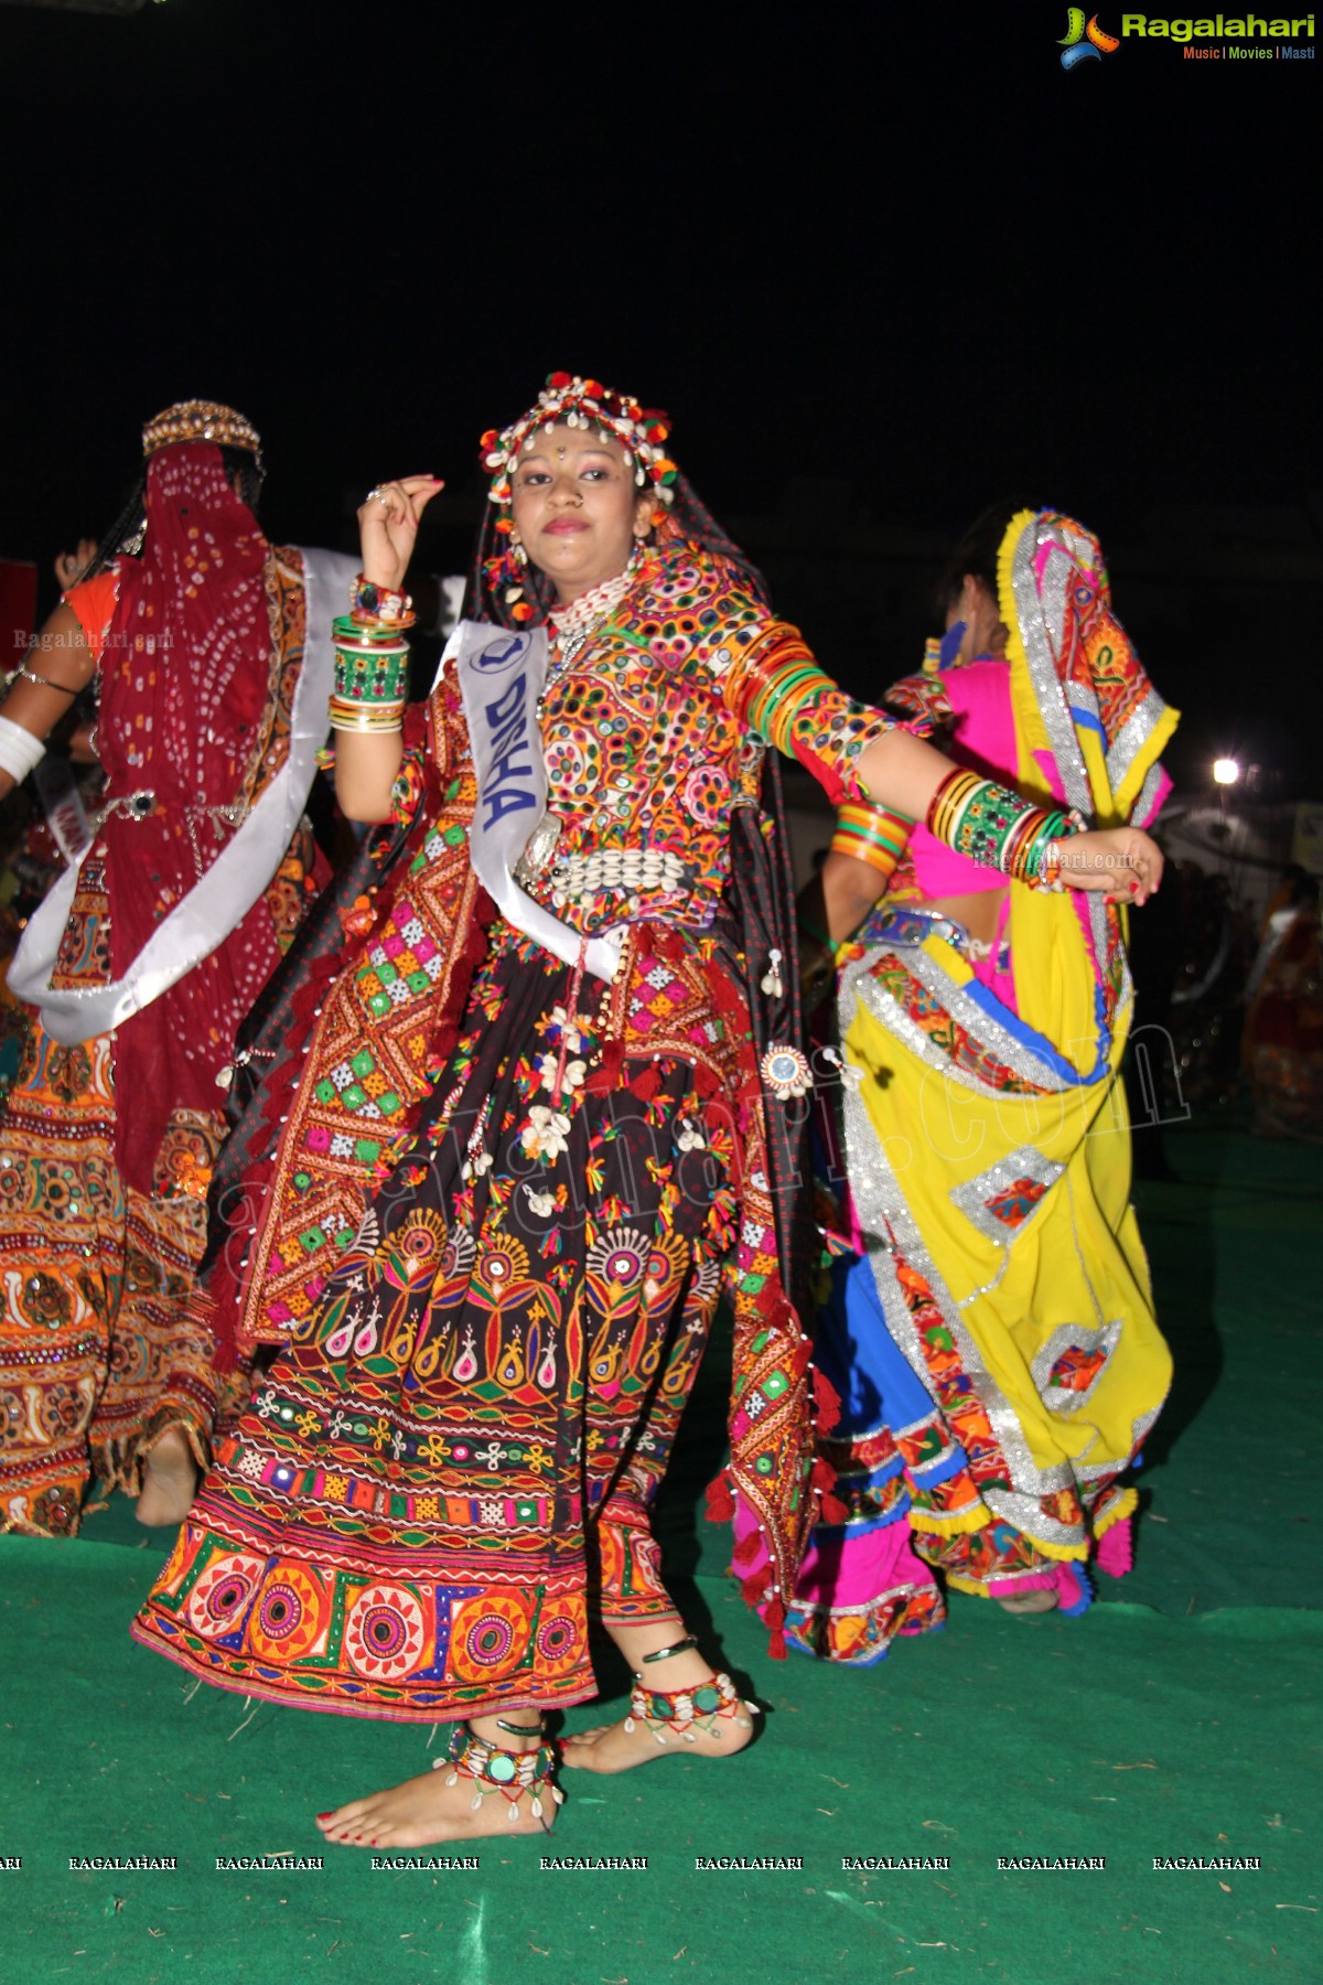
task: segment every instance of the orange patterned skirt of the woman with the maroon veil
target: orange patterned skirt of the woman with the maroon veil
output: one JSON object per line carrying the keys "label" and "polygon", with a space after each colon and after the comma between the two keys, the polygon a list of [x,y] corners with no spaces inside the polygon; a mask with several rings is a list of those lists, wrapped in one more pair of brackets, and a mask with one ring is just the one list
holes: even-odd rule
{"label": "orange patterned skirt of the woman with the maroon veil", "polygon": [[169,1427],[206,1461],[224,1382],[184,1316],[206,1237],[188,1187],[222,1135],[218,1112],[173,1112],[153,1191],[135,1191],[115,1163],[113,1038],[61,1048],[32,1014],[0,1110],[0,1528],[75,1534],[89,1481],[137,1495]]}

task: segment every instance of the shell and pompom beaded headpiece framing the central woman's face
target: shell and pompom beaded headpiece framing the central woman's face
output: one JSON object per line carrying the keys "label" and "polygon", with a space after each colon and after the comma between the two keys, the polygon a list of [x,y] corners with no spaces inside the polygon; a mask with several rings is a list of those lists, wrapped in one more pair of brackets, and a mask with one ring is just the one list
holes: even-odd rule
{"label": "shell and pompom beaded headpiece framing the central woman's face", "polygon": [[512,619],[532,619],[534,607],[524,599],[524,574],[510,550],[512,476],[520,455],[532,449],[534,437],[553,427],[597,429],[601,441],[619,441],[625,466],[635,470],[641,490],[653,484],[657,496],[670,506],[680,474],[666,455],[670,415],[657,407],[641,407],[629,393],[613,393],[601,379],[581,379],[579,373],[547,373],[547,383],[536,405],[510,427],[488,427],[482,437],[482,466],[490,474],[488,502],[496,504],[496,530],[502,550],[484,562],[484,578],[492,592],[504,588]]}

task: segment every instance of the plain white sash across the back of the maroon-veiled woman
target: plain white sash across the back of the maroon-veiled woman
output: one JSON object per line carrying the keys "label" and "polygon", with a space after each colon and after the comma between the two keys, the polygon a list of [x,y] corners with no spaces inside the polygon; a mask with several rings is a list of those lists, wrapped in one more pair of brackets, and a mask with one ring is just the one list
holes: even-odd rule
{"label": "plain white sash across the back of the maroon-veiled woman", "polygon": [[303,818],[317,770],[317,748],[327,732],[325,705],[335,677],[331,619],[345,609],[359,568],[357,560],[343,552],[317,550],[301,556],[305,639],[290,711],[290,756],[234,840],[157,925],[129,971],[111,985],[79,991],[58,991],[50,985],[77,889],[77,867],[60,877],[28,921],[10,965],[10,991],[40,1008],[42,1026],[65,1048],[91,1040],[93,1034],[107,1034],[129,1014],[151,1006],[224,943],[270,883]]}

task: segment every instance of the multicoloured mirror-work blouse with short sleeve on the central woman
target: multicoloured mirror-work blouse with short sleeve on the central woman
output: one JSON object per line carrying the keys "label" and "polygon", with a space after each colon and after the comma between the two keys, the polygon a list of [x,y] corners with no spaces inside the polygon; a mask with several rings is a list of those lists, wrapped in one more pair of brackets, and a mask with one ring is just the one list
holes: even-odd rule
{"label": "multicoloured mirror-work blouse with short sleeve on the central woman", "polygon": [[859,798],[859,756],[889,728],[726,560],[690,544],[651,552],[563,673],[557,659],[553,647],[541,728],[559,838],[520,879],[579,931],[639,917],[710,925],[730,816],[758,804],[764,746],[841,802]]}

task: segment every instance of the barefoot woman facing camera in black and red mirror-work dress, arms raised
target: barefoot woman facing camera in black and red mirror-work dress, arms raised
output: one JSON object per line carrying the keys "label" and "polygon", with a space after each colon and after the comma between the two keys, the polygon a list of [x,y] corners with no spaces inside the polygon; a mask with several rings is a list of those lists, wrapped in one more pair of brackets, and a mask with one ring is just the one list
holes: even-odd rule
{"label": "barefoot woman facing camera in black and red mirror-work dress, arms raised", "polygon": [[[807,1066],[764,746],[916,814],[952,768],[772,619],[664,443],[661,415],[565,373],[484,437],[496,625],[462,623],[403,734],[401,588],[438,484],[359,512],[337,782],[411,838],[371,929],[307,987],[252,1233],[220,1257],[240,1334],[288,1350],[135,1626],[222,1687],[456,1719],[444,1773],[319,1818],[337,1842],[547,1824],[541,1713],[593,1695],[589,1606],[635,1689],[567,1765],[748,1741],[649,1526],[722,1284],[718,1501],[756,1524],[744,1582],[774,1634],[811,1521],[809,1344],[778,1233]],[[1039,879],[1143,893],[1160,869],[1141,834],[1069,838],[984,782],[942,818]]]}

